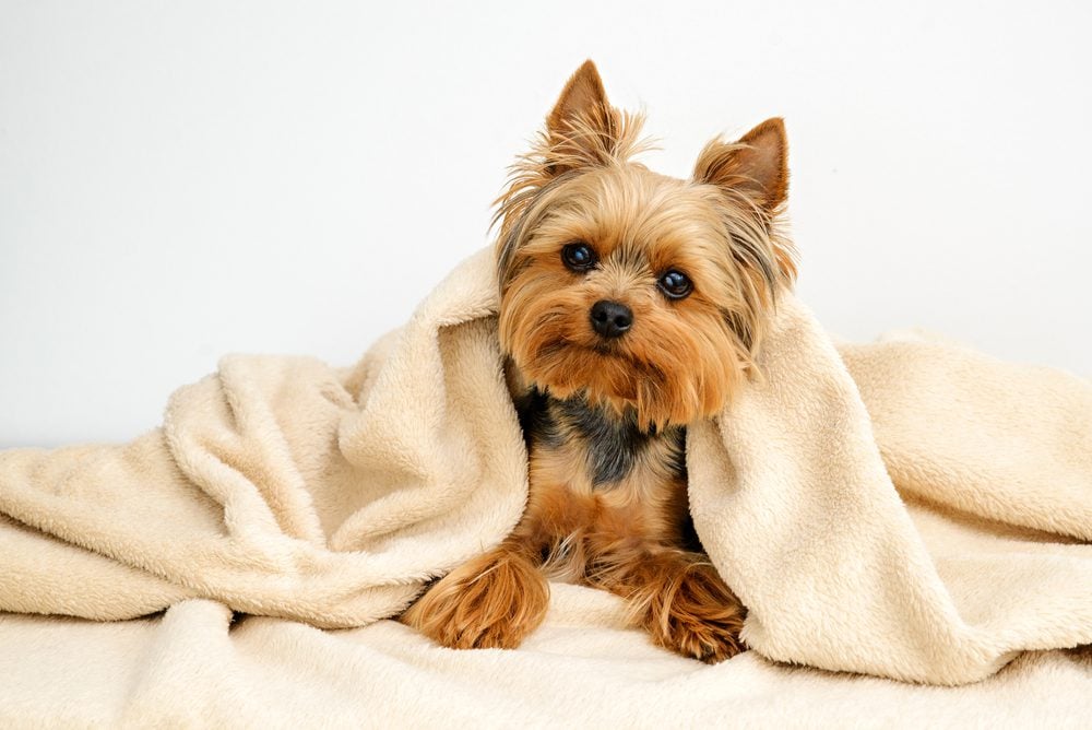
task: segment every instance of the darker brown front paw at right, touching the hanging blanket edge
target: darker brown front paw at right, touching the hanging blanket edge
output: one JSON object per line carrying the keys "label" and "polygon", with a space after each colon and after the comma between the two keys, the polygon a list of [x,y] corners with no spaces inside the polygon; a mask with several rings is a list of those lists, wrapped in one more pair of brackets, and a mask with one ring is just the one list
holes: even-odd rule
{"label": "darker brown front paw at right, touching the hanging blanket edge", "polygon": [[744,651],[739,639],[746,611],[708,564],[692,564],[665,581],[645,627],[653,640],[684,657],[714,664]]}

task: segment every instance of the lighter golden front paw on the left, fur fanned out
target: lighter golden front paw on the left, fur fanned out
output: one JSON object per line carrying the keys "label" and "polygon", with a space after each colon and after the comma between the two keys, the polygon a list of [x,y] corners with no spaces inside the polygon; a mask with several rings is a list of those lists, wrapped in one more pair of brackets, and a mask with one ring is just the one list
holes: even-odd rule
{"label": "lighter golden front paw on the left, fur fanned out", "polygon": [[401,621],[452,649],[513,649],[548,604],[546,578],[527,558],[494,551],[437,581]]}

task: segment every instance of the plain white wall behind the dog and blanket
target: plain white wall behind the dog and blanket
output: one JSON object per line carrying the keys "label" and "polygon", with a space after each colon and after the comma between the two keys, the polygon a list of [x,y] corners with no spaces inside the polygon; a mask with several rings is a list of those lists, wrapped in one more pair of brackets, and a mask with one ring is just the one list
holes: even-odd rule
{"label": "plain white wall behind the dog and blanket", "polygon": [[121,440],[228,352],[352,363],[489,242],[593,58],[686,176],[770,116],[799,291],[1092,374],[1092,3],[0,0],[0,447]]}

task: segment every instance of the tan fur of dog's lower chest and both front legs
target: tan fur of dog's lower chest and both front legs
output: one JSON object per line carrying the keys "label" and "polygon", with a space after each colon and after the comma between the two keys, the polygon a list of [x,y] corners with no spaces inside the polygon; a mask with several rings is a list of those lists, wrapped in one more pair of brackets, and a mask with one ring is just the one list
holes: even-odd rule
{"label": "tan fur of dog's lower chest and both front legs", "polygon": [[531,498],[498,548],[439,580],[402,620],[451,648],[514,648],[545,617],[546,577],[609,590],[661,646],[703,661],[741,648],[745,612],[708,560],[681,545],[686,484],[660,460],[607,492],[578,449],[536,449]]}

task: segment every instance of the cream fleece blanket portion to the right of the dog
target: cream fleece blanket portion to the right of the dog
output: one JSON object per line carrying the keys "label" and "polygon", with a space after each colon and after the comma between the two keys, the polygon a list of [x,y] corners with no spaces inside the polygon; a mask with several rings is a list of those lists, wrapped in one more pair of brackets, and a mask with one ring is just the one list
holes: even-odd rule
{"label": "cream fleece blanket portion to the right of the dog", "polygon": [[792,299],[759,365],[687,459],[752,647],[956,684],[1092,640],[1087,381],[922,340],[840,354]]}

